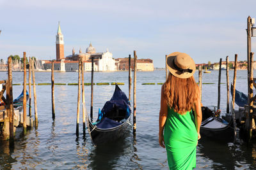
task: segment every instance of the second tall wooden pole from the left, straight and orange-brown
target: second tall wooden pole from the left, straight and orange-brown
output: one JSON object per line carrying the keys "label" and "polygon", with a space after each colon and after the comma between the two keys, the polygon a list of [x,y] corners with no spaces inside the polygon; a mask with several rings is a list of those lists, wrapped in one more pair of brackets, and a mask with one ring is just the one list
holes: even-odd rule
{"label": "second tall wooden pole from the left, straight and orange-brown", "polygon": [[26,69],[26,52],[23,52],[23,71],[24,71],[24,82],[23,82],[23,132],[26,133],[27,124],[27,69]]}

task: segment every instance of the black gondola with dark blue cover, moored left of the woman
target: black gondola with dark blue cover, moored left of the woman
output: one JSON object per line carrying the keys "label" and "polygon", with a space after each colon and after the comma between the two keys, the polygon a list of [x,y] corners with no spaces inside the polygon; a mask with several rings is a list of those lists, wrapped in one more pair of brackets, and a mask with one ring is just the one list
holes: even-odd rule
{"label": "black gondola with dark blue cover, moored left of the woman", "polygon": [[131,125],[131,104],[124,92],[116,85],[110,101],[99,110],[97,121],[92,123],[88,116],[88,131],[94,146],[120,138]]}

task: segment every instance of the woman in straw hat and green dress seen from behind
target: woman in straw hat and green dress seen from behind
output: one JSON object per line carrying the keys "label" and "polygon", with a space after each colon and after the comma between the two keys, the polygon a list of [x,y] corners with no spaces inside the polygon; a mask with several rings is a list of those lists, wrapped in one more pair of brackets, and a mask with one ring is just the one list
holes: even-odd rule
{"label": "woman in straw hat and green dress seen from behind", "polygon": [[193,169],[202,122],[195,62],[186,53],[174,52],[166,66],[170,73],[161,89],[159,145],[166,148],[170,169]]}

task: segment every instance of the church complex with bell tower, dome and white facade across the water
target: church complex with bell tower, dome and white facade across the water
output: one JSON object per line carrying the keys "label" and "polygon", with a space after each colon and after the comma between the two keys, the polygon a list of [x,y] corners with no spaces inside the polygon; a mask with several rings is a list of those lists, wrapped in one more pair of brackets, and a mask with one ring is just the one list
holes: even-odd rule
{"label": "church complex with bell tower, dome and white facade across the water", "polygon": [[[108,49],[106,52],[97,52],[92,43],[86,48],[85,52],[82,52],[80,49],[79,53],[76,53],[73,48],[72,54],[64,57],[64,40],[59,22],[56,34],[56,62],[54,62],[54,70],[77,71],[79,57],[82,57],[84,61],[85,71],[92,70],[92,60],[94,71],[124,71],[128,67],[128,59],[113,59],[113,54]],[[51,62],[45,62],[44,65],[47,69],[51,68]],[[137,69],[138,71],[154,71],[153,60],[138,59]]]}

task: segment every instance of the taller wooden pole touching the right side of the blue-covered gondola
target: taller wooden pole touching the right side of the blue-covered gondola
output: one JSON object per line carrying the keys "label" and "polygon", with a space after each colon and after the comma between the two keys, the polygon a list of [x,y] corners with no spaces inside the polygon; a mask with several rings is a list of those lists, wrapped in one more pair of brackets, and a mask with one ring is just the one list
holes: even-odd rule
{"label": "taller wooden pole touching the right side of the blue-covered gondola", "polygon": [[134,55],[134,76],[133,76],[133,133],[136,132],[136,82],[137,82],[137,55],[136,51],[133,51]]}

